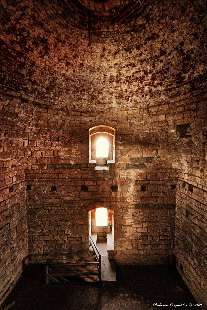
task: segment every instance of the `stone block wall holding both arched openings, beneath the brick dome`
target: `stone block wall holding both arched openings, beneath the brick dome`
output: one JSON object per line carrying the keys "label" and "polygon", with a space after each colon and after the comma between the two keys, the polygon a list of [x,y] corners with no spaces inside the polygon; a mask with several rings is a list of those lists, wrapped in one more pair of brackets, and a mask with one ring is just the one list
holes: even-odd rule
{"label": "stone block wall holding both arched openings, beneath the brick dome", "polygon": [[[17,180],[18,175],[25,176],[30,262],[65,262],[80,254],[86,259],[87,206],[95,202],[116,207],[116,262],[163,264],[171,257],[177,182],[191,175],[192,195],[200,195],[196,189],[200,186],[205,192],[205,93],[149,108],[88,113],[48,106],[47,101],[39,103],[32,96],[11,91],[1,97],[2,156],[9,156],[2,162],[5,172],[16,167],[12,173]],[[103,123],[116,128],[116,162],[110,170],[96,171],[95,164],[89,164],[88,129]],[[188,124],[187,133],[180,124]],[[197,151],[192,151],[194,145]],[[3,182],[10,184],[9,176],[5,174],[8,180]],[[24,184],[16,179],[13,183]],[[81,185],[88,186],[88,191],[81,191]],[[111,185],[117,185],[117,190]],[[24,197],[21,194],[20,201]],[[25,202],[15,206],[25,215]],[[178,200],[177,214],[179,206]],[[195,225],[200,223],[196,220]],[[27,255],[25,217],[24,227],[22,260]],[[180,252],[176,253],[179,260]]]}

